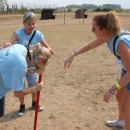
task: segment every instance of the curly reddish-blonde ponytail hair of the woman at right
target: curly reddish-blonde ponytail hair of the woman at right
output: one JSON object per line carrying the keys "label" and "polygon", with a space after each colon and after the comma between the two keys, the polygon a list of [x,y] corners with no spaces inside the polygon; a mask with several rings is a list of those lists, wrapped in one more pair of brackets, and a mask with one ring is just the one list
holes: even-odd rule
{"label": "curly reddish-blonde ponytail hair of the woman at right", "polygon": [[105,28],[110,35],[120,35],[121,23],[114,11],[106,14],[98,14],[93,18],[100,29]]}

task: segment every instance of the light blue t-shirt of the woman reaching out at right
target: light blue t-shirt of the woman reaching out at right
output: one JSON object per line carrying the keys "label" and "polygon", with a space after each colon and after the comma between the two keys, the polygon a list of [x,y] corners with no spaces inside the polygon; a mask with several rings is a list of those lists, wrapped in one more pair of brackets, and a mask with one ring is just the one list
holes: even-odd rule
{"label": "light blue t-shirt of the woman reaching out at right", "polygon": [[[125,33],[125,30],[121,30],[121,33]],[[113,36],[110,42],[105,41],[107,43],[107,45],[108,45],[109,50],[113,54],[114,54],[114,52],[113,52],[113,42],[114,42],[115,37],[116,36]],[[122,36],[120,36],[117,39],[117,41],[115,43],[115,53],[118,56],[120,56],[120,54],[117,51],[117,47],[118,47],[118,45],[119,45],[120,42],[124,42],[128,46],[128,48],[130,48],[130,35],[122,35]],[[122,60],[121,60],[121,63],[122,63],[122,69],[126,70],[126,68],[125,68],[124,63],[122,62]]]}

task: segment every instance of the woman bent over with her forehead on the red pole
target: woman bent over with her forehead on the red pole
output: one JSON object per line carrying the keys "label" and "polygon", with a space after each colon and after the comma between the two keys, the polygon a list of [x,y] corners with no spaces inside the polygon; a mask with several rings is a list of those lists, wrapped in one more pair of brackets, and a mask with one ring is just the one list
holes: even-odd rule
{"label": "woman bent over with her forehead on the red pole", "polygon": [[[24,77],[32,73],[41,74],[50,60],[51,53],[37,43],[31,47],[31,60],[26,57],[27,49],[20,44],[14,44],[8,48],[0,50],[0,117],[4,115],[5,95],[11,89],[14,90],[14,96],[24,98],[25,95],[40,91],[42,83],[37,83],[31,88],[25,88]],[[31,68],[27,71],[28,64]]]}

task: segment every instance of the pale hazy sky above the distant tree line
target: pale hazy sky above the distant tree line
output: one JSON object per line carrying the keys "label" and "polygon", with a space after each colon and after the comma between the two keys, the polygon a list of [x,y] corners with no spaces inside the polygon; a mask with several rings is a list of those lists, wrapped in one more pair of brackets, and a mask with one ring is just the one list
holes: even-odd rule
{"label": "pale hazy sky above the distant tree line", "polygon": [[54,4],[59,6],[66,6],[69,4],[94,4],[94,5],[103,5],[103,4],[119,4],[122,8],[130,8],[130,0],[8,0],[8,2],[23,2],[23,3],[42,3],[42,4]]}

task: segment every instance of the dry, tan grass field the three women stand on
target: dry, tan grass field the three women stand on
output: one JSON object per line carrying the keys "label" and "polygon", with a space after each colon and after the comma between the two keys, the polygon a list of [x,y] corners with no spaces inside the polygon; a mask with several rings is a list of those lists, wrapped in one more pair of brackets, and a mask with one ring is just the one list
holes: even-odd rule
{"label": "dry, tan grass field the three women stand on", "polygon": [[[75,49],[95,38],[91,33],[94,15],[89,13],[84,23],[73,18],[66,19],[65,24],[60,17],[37,19],[36,29],[55,50],[43,75],[40,104],[44,111],[38,113],[37,130],[121,130],[105,125],[105,121],[118,117],[118,109],[115,97],[106,104],[103,95],[120,75],[107,46],[78,55],[70,69],[63,68],[64,60]],[[130,14],[122,13],[119,17],[123,28],[130,30]],[[23,27],[22,16],[0,16],[0,45],[20,27]],[[0,130],[33,130],[35,112],[31,109],[31,94],[25,97],[25,104],[25,115],[18,117],[19,100],[13,91],[7,94]]]}

